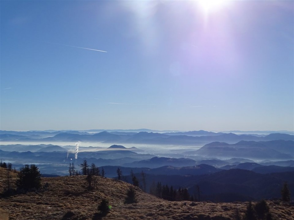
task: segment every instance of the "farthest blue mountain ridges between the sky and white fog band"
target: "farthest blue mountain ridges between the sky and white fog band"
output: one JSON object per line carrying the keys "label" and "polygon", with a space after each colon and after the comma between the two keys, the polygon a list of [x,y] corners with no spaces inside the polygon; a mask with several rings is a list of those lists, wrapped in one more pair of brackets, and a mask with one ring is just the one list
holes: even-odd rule
{"label": "farthest blue mountain ridges between the sky and white fog band", "polygon": [[[50,136],[51,134],[51,136]],[[55,141],[88,141],[104,143],[135,143],[135,144],[167,144],[167,145],[199,145],[207,144],[213,141],[227,142],[229,144],[238,141],[272,141],[285,140],[294,141],[294,135],[273,133],[266,136],[233,134],[233,133],[214,133],[208,131],[190,131],[190,132],[168,132],[153,133],[141,131],[134,132],[107,132],[90,134],[87,132],[68,131],[68,132],[16,132],[0,131],[1,141],[38,141],[38,142],[55,142]]]}

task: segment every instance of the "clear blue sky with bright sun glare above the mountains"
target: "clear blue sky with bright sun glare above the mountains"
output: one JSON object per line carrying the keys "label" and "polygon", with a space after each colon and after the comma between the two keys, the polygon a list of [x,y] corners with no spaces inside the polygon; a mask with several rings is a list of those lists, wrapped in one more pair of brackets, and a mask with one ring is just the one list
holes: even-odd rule
{"label": "clear blue sky with bright sun glare above the mountains", "polygon": [[294,130],[293,9],[1,1],[0,129]]}

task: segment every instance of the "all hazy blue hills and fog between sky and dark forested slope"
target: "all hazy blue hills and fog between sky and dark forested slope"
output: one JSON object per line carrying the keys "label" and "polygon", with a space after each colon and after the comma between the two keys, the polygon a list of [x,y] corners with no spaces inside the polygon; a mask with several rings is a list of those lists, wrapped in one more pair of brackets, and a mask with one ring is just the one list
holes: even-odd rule
{"label": "all hazy blue hills and fog between sky and dark forested slope", "polygon": [[117,167],[126,174],[132,169],[139,173],[145,169],[149,174],[198,175],[236,168],[284,172],[292,171],[294,166],[294,136],[283,133],[260,136],[204,130],[95,134],[57,131],[48,137],[48,132],[43,131],[2,132],[1,160],[13,163],[16,169],[38,164],[43,174],[68,175],[70,163],[74,163],[76,172],[81,172],[84,161],[104,167],[107,177],[115,177]]}

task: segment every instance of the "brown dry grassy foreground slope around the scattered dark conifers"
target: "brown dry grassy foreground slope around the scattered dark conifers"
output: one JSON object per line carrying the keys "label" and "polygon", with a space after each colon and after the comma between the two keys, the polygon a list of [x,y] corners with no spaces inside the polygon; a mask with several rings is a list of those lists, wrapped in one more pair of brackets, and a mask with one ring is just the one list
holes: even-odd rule
{"label": "brown dry grassy foreground slope around the scattered dark conifers", "polygon": [[[3,176],[2,176],[3,177]],[[97,177],[95,189],[86,189],[86,176],[42,178],[40,192],[0,198],[0,219],[179,219],[230,220],[236,210],[244,215],[248,203],[169,202],[136,189],[138,203],[124,204],[126,192],[132,185]],[[1,178],[3,191],[5,178]],[[13,178],[15,180],[15,178]],[[97,210],[103,198],[112,206],[106,216]],[[274,219],[294,219],[294,207],[280,201],[268,201]]]}

